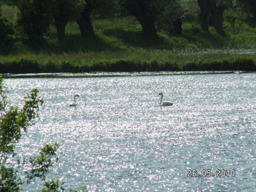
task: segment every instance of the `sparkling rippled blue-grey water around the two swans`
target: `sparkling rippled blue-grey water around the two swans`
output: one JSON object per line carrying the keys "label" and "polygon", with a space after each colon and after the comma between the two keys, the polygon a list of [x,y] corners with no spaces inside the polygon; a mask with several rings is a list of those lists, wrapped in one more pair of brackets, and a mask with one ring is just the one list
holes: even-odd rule
{"label": "sparkling rippled blue-grey water around the two swans", "polygon": [[[40,120],[20,157],[58,142],[47,179],[89,191],[255,191],[256,74],[6,79],[13,104],[37,88]],[[159,106],[159,92],[173,106]],[[78,93],[78,106],[68,103]],[[24,168],[24,167],[23,167]],[[25,167],[26,168],[26,167]],[[187,177],[189,169],[196,177]],[[211,169],[214,177],[202,177]],[[216,177],[234,169],[234,177]],[[24,187],[37,190],[37,184]],[[33,189],[32,189],[33,188]]]}

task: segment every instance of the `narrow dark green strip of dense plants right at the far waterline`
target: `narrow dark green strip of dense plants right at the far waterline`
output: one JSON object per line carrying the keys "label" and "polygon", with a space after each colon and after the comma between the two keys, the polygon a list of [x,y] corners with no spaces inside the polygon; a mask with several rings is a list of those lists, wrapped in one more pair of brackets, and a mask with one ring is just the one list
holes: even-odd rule
{"label": "narrow dark green strip of dense plants right at the far waterline", "polygon": [[88,73],[88,72],[159,72],[159,71],[256,71],[255,58],[234,56],[227,58],[208,58],[187,60],[144,60],[112,59],[99,60],[88,65],[82,59],[38,61],[31,58],[18,58],[0,63],[3,74],[24,73]]}

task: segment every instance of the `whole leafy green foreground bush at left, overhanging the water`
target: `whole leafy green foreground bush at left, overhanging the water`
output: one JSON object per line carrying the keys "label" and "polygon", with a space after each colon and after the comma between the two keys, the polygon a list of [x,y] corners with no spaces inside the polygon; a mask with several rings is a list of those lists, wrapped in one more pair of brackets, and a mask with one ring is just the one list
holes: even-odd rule
{"label": "whole leafy green foreground bush at left, overhanging the water", "polygon": [[[54,163],[52,158],[56,158],[55,161],[58,161],[56,151],[59,145],[54,143],[42,147],[39,155],[33,156],[29,161],[24,162],[31,167],[25,172],[26,179],[22,180],[22,178],[18,177],[17,170],[10,163],[7,163],[7,160],[15,156],[15,144],[22,137],[22,133],[26,133],[28,127],[34,124],[33,119],[38,118],[39,106],[44,101],[37,97],[38,90],[33,89],[30,94],[24,97],[25,104],[19,110],[18,106],[11,105],[8,107],[7,92],[8,90],[0,76],[0,191],[11,192],[20,191],[20,186],[29,184],[37,178],[45,180],[50,166]],[[65,189],[62,185],[63,183],[59,179],[56,181],[51,180],[45,183],[45,187],[41,191],[63,191]],[[86,187],[80,189],[81,191],[86,191]],[[77,191],[80,190],[78,189]]]}

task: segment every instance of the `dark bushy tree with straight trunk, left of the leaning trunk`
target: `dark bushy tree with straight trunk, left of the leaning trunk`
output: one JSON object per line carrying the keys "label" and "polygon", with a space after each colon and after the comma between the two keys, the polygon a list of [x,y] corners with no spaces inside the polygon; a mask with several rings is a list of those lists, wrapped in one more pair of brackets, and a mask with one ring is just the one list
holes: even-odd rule
{"label": "dark bushy tree with straight trunk, left of the leaning trunk", "polygon": [[65,41],[68,22],[80,18],[84,0],[13,0],[19,11],[16,16],[18,31],[27,38],[40,40],[54,19],[58,40]]}

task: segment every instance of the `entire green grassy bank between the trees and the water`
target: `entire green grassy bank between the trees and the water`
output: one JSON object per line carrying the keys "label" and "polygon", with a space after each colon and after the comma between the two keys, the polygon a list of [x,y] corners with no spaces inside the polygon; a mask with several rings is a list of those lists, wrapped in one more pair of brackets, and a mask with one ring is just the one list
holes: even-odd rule
{"label": "entire green grassy bank between the trees and the water", "polygon": [[[14,18],[16,8],[2,10]],[[159,31],[157,39],[144,37],[132,16],[96,19],[93,27],[94,36],[82,38],[78,25],[70,22],[64,44],[53,26],[40,45],[16,39],[0,54],[0,74],[256,71],[256,29],[245,22],[236,25],[237,32],[224,22],[225,35],[183,22],[181,35]]]}

